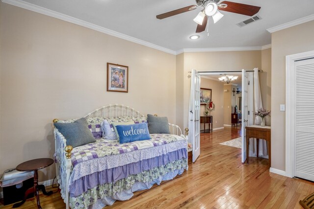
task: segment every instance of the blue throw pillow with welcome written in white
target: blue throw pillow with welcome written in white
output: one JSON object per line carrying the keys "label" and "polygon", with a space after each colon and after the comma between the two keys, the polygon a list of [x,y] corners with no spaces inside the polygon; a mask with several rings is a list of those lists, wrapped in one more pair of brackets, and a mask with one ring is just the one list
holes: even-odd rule
{"label": "blue throw pillow with welcome written in white", "polygon": [[151,139],[147,123],[117,125],[116,129],[119,135],[120,144],[131,141]]}

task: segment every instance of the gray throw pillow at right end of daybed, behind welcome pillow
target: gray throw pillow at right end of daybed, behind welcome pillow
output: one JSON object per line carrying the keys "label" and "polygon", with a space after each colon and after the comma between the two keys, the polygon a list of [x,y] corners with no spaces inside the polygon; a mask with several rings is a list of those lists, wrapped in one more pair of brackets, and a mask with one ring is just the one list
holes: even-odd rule
{"label": "gray throw pillow at right end of daybed, behind welcome pillow", "polygon": [[170,134],[168,118],[147,114],[148,130],[150,134]]}

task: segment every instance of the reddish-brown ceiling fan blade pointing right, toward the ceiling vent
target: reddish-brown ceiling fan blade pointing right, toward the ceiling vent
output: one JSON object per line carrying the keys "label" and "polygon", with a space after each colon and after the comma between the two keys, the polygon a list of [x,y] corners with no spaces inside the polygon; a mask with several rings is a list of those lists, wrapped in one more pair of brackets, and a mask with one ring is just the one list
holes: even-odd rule
{"label": "reddish-brown ceiling fan blade pointing right, toward the ceiling vent", "polygon": [[222,1],[220,4],[227,4],[226,8],[221,8],[218,6],[218,9],[226,12],[233,12],[241,15],[253,16],[258,13],[261,9],[259,6],[253,6],[243,3],[235,3],[231,1]]}

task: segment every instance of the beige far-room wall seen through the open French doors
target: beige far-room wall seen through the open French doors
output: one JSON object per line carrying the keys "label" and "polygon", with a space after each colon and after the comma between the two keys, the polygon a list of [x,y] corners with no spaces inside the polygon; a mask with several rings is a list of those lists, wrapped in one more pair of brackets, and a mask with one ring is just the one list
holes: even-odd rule
{"label": "beige far-room wall seen through the open French doors", "polygon": [[[212,128],[221,128],[224,126],[223,105],[224,98],[221,94],[224,91],[224,84],[208,78],[201,78],[201,88],[211,89],[211,101],[215,104],[215,110],[210,113],[212,116]],[[204,116],[205,105],[201,106],[201,116]],[[208,129],[208,124],[205,129]],[[201,124],[201,130],[204,130],[204,124]]]}

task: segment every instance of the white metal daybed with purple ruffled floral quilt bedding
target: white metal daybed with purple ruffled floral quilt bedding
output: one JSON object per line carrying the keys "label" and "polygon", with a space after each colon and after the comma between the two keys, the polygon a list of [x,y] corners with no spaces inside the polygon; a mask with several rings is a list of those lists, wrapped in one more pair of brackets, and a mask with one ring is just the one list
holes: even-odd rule
{"label": "white metal daybed with purple ruffled floral quilt bedding", "polygon": [[[96,124],[96,129],[106,118],[147,122],[138,111],[117,104],[97,109],[85,118]],[[151,134],[149,140],[119,144],[100,138],[75,148],[55,128],[56,177],[66,208],[103,208],[182,174],[188,168],[187,137],[179,126],[169,127],[171,134]]]}

